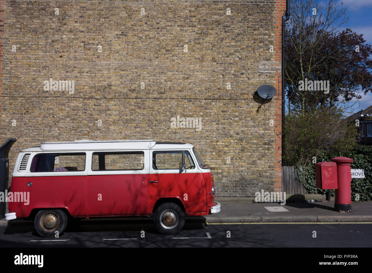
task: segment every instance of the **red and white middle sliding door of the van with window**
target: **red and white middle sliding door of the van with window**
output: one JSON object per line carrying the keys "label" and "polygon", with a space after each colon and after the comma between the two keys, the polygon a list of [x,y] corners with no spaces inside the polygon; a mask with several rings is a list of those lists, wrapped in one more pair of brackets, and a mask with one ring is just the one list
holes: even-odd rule
{"label": "red and white middle sliding door of the van with window", "polygon": [[146,215],[148,151],[93,152],[88,215]]}

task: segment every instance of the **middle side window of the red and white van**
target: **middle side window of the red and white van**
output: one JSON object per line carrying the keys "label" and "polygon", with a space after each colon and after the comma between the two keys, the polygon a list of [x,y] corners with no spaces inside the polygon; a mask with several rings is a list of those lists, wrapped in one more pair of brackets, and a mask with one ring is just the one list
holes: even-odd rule
{"label": "middle side window of the red and white van", "polygon": [[94,152],[92,170],[143,170],[144,152]]}

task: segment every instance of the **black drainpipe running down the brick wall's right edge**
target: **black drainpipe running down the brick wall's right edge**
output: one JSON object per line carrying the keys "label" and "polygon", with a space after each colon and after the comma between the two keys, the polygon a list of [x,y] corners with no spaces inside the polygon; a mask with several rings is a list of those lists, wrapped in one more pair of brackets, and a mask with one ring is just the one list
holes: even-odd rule
{"label": "black drainpipe running down the brick wall's right edge", "polygon": [[289,0],[286,0],[285,4],[285,17],[282,19],[282,166],[284,166],[284,112],[285,112],[285,90],[284,90],[284,79],[285,79],[285,22],[289,19]]}

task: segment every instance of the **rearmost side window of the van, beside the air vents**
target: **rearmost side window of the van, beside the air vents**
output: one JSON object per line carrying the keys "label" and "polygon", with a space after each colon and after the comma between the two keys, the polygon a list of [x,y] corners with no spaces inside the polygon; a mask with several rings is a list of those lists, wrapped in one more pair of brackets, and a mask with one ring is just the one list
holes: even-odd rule
{"label": "rearmost side window of the van, beside the air vents", "polygon": [[31,162],[31,172],[81,172],[85,153],[39,153]]}

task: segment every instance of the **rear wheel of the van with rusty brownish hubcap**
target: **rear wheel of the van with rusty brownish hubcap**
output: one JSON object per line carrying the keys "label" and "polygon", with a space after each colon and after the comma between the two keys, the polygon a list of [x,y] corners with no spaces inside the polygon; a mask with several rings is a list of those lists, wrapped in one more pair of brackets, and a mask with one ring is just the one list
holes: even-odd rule
{"label": "rear wheel of the van with rusty brownish hubcap", "polygon": [[60,209],[41,210],[35,216],[34,225],[42,237],[59,236],[67,226],[67,215]]}

